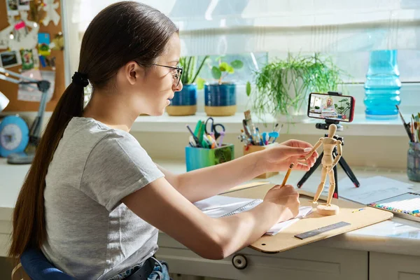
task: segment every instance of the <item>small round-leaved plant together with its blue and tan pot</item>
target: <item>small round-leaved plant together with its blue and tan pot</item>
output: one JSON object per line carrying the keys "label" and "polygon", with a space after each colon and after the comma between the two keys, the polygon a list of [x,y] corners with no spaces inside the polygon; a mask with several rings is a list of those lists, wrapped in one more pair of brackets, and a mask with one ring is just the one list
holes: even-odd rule
{"label": "small round-leaved plant together with its blue and tan pot", "polygon": [[223,82],[223,79],[235,69],[241,69],[244,63],[236,59],[230,64],[217,59],[218,64],[211,67],[211,76],[216,83],[204,85],[204,111],[207,116],[232,116],[237,111],[236,84]]}

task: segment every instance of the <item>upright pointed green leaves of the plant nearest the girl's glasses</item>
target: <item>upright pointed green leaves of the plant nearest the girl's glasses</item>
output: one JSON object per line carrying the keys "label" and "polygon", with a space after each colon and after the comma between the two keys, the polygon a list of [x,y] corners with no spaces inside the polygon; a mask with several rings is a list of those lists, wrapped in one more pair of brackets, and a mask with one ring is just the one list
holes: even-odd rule
{"label": "upright pointed green leaves of the plant nearest the girl's glasses", "polygon": [[189,85],[191,83],[195,83],[197,80],[197,88],[199,90],[202,90],[204,87],[205,80],[198,77],[198,74],[202,70],[204,63],[209,58],[209,55],[206,55],[200,65],[198,66],[197,71],[195,69],[197,68],[197,60],[198,58],[195,56],[191,57],[181,57],[179,59],[179,66],[183,67],[183,73],[181,76],[181,82],[183,85]]}

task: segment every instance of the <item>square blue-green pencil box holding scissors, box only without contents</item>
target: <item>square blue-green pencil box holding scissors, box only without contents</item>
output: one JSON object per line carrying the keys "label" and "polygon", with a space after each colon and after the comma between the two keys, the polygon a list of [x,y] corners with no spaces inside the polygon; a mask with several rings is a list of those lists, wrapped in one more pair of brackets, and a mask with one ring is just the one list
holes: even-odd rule
{"label": "square blue-green pencil box holding scissors, box only without contents", "polygon": [[220,148],[194,148],[186,146],[187,172],[218,165],[235,159],[235,146],[222,144]]}

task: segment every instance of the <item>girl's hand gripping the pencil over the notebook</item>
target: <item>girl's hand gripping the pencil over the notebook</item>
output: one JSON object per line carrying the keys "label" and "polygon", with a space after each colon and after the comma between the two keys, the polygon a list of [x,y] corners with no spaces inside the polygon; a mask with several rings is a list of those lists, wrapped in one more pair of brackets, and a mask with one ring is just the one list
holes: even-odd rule
{"label": "girl's hand gripping the pencil over the notebook", "polygon": [[264,197],[264,202],[273,203],[279,209],[277,223],[288,221],[299,214],[299,193],[291,185],[276,185]]}

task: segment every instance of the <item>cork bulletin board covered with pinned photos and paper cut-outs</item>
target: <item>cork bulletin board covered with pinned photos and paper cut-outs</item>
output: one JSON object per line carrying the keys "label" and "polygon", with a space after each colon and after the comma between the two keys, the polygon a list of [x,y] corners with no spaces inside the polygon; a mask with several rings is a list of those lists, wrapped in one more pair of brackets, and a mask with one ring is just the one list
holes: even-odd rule
{"label": "cork bulletin board covered with pinned photos and paper cut-outs", "polygon": [[[36,28],[32,31],[34,26]],[[31,39],[28,40],[29,36]],[[42,73],[42,76],[33,76],[37,79],[44,79],[44,73],[52,77],[54,90],[51,90],[52,97],[45,111],[54,110],[65,90],[64,48],[59,0],[0,0],[0,66],[20,74],[27,71]],[[13,55],[16,55],[15,59]],[[39,102],[28,101],[29,97],[25,99],[19,85],[0,80],[0,92],[10,100],[3,112],[38,111]],[[31,94],[34,98],[36,94],[41,97],[37,90]]]}

